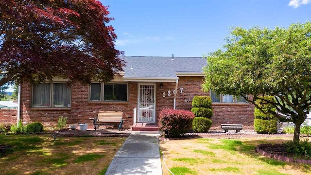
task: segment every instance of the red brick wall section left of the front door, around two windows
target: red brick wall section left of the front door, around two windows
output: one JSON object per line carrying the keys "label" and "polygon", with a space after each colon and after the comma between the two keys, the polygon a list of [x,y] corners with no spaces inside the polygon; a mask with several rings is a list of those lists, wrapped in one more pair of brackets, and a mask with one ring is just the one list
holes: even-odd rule
{"label": "red brick wall section left of the front door, around two windows", "polygon": [[21,86],[21,116],[23,122],[41,122],[44,125],[55,125],[60,116],[68,117],[68,124],[89,123],[89,118],[98,115],[98,111],[122,111],[123,118],[133,123],[133,109],[137,106],[137,83],[128,83],[128,102],[89,102],[88,86],[73,83],[71,86],[71,108],[31,108],[31,86],[24,83]]}

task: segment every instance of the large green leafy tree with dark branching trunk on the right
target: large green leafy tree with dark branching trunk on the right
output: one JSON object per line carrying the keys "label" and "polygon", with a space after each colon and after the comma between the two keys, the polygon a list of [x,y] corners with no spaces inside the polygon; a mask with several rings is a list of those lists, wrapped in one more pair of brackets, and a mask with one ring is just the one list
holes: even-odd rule
{"label": "large green leafy tree with dark branching trunk on the right", "polygon": [[[275,29],[237,27],[223,47],[207,55],[203,88],[241,95],[263,113],[293,122],[298,142],[311,109],[311,22]],[[276,110],[262,110],[258,99]]]}

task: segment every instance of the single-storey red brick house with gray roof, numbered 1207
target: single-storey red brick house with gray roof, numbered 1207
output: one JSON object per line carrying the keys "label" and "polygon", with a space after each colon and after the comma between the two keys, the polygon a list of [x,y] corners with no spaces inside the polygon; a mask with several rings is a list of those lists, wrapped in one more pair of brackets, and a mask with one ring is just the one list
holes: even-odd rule
{"label": "single-storey red brick house with gray roof, numbered 1207", "polygon": [[254,106],[242,98],[202,91],[206,60],[201,57],[122,57],[124,72],[109,83],[94,81],[90,86],[57,78],[36,86],[21,85],[20,116],[24,123],[55,125],[60,116],[68,124],[92,123],[98,111],[122,111],[130,125],[157,124],[162,108],[191,109],[196,95],[211,95],[213,124],[244,124],[254,130]]}

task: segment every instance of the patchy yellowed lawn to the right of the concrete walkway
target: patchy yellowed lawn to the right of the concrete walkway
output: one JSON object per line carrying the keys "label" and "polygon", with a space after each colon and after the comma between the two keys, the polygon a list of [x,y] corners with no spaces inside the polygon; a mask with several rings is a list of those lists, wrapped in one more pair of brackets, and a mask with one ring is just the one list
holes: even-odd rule
{"label": "patchy yellowed lawn to the right of the concrete walkway", "polygon": [[[161,141],[160,147],[175,175],[310,175],[310,165],[277,161],[255,152],[261,143],[284,141],[287,139],[188,139]],[[162,167],[163,174],[170,175]]]}

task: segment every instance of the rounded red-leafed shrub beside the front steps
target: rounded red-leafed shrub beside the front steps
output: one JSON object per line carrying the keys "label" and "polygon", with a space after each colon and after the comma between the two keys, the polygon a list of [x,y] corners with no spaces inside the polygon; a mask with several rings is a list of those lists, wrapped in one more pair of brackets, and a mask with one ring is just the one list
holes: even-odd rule
{"label": "rounded red-leafed shrub beside the front steps", "polygon": [[165,137],[178,138],[191,129],[193,119],[191,111],[164,108],[160,112],[160,130]]}

